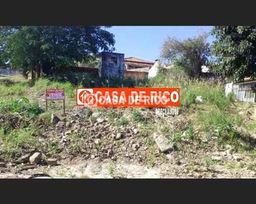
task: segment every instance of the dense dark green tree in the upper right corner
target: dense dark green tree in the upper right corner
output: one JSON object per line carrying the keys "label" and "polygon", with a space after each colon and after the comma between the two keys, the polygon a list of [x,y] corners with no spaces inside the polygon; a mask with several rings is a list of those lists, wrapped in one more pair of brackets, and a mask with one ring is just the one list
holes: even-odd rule
{"label": "dense dark green tree in the upper right corner", "polygon": [[216,69],[234,81],[256,76],[255,26],[216,26],[212,35]]}

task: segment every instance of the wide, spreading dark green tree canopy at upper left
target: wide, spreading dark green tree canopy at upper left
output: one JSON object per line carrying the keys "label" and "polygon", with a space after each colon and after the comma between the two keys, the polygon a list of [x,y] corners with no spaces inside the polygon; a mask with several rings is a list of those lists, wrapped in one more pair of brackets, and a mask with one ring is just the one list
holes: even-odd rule
{"label": "wide, spreading dark green tree canopy at upper left", "polygon": [[100,50],[112,52],[114,35],[100,26],[0,27],[0,55],[12,67],[51,73],[61,66],[87,63]]}

